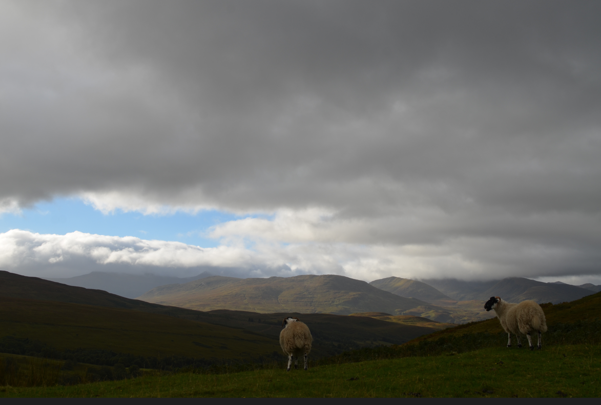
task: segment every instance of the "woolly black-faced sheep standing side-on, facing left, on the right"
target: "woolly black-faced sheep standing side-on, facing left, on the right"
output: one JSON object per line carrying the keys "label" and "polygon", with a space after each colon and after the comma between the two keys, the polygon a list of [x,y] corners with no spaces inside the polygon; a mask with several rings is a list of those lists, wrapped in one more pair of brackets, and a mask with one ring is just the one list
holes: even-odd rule
{"label": "woolly black-faced sheep standing side-on, facing left, on the right", "polygon": [[534,301],[522,301],[512,304],[503,301],[500,297],[490,297],[484,304],[484,309],[495,310],[501,326],[507,332],[507,347],[511,347],[511,334],[518,340],[518,347],[522,347],[518,331],[528,338],[530,350],[534,350],[530,334],[538,332],[538,348],[542,349],[542,333],[547,331],[547,320],[543,309]]}

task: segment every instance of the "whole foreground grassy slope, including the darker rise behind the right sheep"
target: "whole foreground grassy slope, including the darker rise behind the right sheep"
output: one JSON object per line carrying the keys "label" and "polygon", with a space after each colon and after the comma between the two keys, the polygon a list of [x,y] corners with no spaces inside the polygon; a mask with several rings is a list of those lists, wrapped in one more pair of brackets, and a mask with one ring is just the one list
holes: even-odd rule
{"label": "whole foreground grassy slope, including the darker rise behind the right sheep", "polygon": [[397,347],[326,359],[329,364],[310,363],[306,372],[284,371],[282,359],[277,367],[241,373],[163,374],[70,387],[5,386],[0,396],[595,398],[601,395],[600,304],[601,293],[544,305],[549,332],[543,350],[507,349],[493,319]]}

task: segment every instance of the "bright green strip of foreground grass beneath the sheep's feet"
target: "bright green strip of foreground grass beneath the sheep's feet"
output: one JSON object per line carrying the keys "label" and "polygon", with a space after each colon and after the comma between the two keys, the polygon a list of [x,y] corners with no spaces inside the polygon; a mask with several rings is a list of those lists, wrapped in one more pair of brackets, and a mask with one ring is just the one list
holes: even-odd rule
{"label": "bright green strip of foreground grass beneath the sheep's feet", "polygon": [[[283,359],[284,360],[284,359]],[[34,388],[2,397],[599,397],[601,346],[486,348],[456,355],[341,363],[286,372],[180,373]]]}

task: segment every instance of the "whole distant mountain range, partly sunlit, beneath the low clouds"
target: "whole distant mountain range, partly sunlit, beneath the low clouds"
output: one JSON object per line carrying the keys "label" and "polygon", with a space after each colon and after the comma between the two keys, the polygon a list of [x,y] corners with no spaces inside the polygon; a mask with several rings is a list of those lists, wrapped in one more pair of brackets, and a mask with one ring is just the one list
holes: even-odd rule
{"label": "whole distant mountain range, partly sunlit, beneath the low clouds", "polygon": [[[384,312],[448,323],[490,318],[491,314],[482,310],[482,303],[491,296],[501,296],[510,302],[533,299],[539,303],[560,303],[601,289],[592,284],[577,287],[519,277],[491,281],[388,277],[365,283],[335,275],[241,279],[213,276],[208,272],[190,278],[94,272],[54,281],[201,311],[229,309],[341,315]],[[139,294],[134,296],[135,293]]]}

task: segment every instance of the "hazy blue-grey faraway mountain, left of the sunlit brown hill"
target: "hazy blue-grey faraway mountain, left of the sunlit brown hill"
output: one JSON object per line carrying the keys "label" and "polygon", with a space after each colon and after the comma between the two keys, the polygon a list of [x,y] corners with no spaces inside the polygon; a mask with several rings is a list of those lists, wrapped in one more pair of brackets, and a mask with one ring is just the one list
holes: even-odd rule
{"label": "hazy blue-grey faraway mountain, left of the sunlit brown hill", "polygon": [[212,274],[208,272],[194,277],[178,278],[157,276],[155,274],[123,274],[94,271],[76,277],[46,278],[46,280],[76,287],[108,291],[126,298],[136,298],[161,285],[187,283],[210,276]]}

